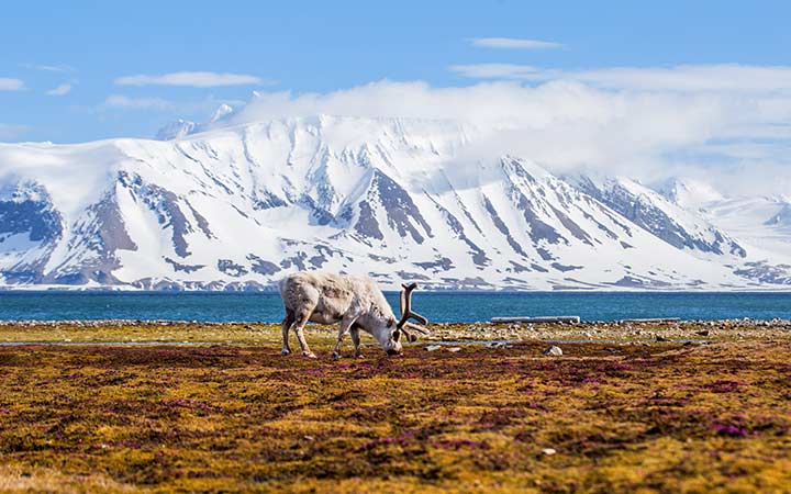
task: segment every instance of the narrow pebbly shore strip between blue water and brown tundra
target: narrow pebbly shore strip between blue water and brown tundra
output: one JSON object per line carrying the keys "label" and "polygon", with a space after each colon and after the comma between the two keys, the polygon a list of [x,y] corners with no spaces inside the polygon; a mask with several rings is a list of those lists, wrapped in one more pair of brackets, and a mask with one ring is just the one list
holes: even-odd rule
{"label": "narrow pebbly shore strip between blue water and brown tundra", "polygon": [[[612,341],[623,344],[715,343],[791,339],[789,319],[679,321],[672,323],[580,322],[578,324],[430,324],[431,334],[414,345],[435,341]],[[332,341],[336,325],[305,327],[313,338]],[[179,321],[0,321],[0,341],[47,344],[190,344],[279,346],[280,325]],[[363,341],[371,339],[364,335]]]}

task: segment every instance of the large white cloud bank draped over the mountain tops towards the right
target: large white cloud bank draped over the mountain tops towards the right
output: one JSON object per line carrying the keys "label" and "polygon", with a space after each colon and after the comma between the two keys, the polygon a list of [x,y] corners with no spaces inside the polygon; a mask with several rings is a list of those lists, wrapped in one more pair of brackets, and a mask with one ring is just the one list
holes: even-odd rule
{"label": "large white cloud bank draped over the mountain tops towards the right", "polygon": [[[476,154],[514,154],[555,172],[594,169],[646,182],[697,173],[716,176],[731,192],[755,191],[758,181],[764,191],[780,191],[791,187],[791,96],[783,71],[768,72],[773,79],[760,83],[684,77],[647,90],[643,81],[604,87],[564,77],[445,88],[385,80],[326,93],[259,92],[233,122],[315,114],[450,119],[483,130]],[[759,145],[766,138],[779,143]],[[767,170],[773,173],[755,176]]]}

